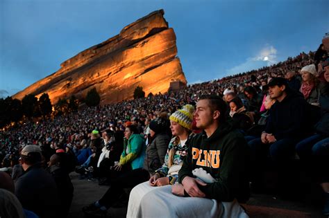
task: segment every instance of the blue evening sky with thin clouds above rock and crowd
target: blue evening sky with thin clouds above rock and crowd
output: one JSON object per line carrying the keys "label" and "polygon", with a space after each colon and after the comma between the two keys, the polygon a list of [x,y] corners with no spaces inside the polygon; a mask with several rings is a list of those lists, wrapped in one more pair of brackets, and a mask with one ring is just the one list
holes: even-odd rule
{"label": "blue evening sky with thin clouds above rock and crowd", "polygon": [[0,98],[155,10],[165,10],[193,84],[316,51],[328,8],[328,0],[1,0]]}

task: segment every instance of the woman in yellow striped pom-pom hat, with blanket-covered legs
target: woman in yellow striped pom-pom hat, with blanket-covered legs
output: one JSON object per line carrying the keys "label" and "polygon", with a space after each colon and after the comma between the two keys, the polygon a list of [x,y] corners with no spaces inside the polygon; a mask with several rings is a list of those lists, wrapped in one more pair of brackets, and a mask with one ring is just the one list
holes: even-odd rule
{"label": "woman in yellow striped pom-pom hat, with blanket-covered legs", "polygon": [[140,216],[140,202],[145,194],[154,190],[156,186],[172,185],[178,179],[178,171],[187,154],[187,141],[194,136],[191,131],[193,113],[194,107],[185,105],[183,109],[174,112],[169,117],[170,129],[174,137],[169,143],[165,163],[158,170],[155,170],[155,174],[151,176],[149,181],[137,185],[130,192],[127,217]]}

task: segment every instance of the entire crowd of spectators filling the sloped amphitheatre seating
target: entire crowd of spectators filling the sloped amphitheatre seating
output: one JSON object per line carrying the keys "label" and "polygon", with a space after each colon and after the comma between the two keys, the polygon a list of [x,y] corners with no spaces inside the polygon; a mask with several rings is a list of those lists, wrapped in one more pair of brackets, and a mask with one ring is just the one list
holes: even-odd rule
{"label": "entire crowd of spectators filling the sloped amphitheatre seating", "polygon": [[264,191],[270,169],[288,193],[298,159],[328,215],[328,40],[255,71],[4,129],[0,199],[17,217],[67,217],[76,171],[110,185],[87,215],[105,216],[133,188],[127,217],[248,217],[249,188]]}

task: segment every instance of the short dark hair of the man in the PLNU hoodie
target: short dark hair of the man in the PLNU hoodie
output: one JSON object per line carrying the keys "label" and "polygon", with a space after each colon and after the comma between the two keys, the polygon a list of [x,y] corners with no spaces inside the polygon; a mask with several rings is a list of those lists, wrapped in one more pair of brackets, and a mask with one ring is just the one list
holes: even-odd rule
{"label": "short dark hair of the man in the PLNU hoodie", "polygon": [[219,122],[226,121],[226,111],[228,110],[228,105],[223,99],[221,99],[221,97],[215,95],[203,95],[199,98],[199,100],[208,100],[212,112],[219,111],[221,113],[221,115],[219,115]]}

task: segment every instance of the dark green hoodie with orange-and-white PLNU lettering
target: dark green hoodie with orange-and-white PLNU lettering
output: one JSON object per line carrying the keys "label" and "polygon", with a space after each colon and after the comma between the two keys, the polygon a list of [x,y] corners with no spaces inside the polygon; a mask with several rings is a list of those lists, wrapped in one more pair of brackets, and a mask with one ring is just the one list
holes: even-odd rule
{"label": "dark green hoodie with orange-and-white PLNU lettering", "polygon": [[228,123],[222,123],[209,138],[204,131],[192,138],[178,179],[182,183],[185,176],[194,177],[192,170],[201,167],[217,179],[214,183],[199,185],[206,198],[246,201],[250,194],[246,176],[248,158],[244,136]]}

